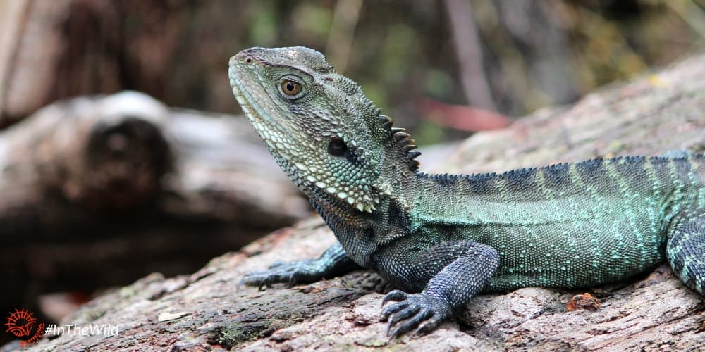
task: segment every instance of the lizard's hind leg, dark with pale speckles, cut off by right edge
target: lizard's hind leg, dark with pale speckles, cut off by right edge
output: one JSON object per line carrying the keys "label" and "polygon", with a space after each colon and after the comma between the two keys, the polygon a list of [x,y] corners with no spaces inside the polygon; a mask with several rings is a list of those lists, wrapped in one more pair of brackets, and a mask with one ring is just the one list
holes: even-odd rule
{"label": "lizard's hind leg, dark with pale speckles, cut off by right edge", "polygon": [[687,287],[705,296],[705,214],[680,217],[671,226],[666,257]]}

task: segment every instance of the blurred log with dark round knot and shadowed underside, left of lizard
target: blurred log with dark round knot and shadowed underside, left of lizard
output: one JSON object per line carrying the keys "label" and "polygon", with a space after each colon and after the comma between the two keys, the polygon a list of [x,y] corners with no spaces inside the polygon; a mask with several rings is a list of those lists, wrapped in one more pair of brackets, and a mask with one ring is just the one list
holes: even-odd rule
{"label": "blurred log with dark round knot and shadowed underside, left of lizard", "polygon": [[192,272],[311,211],[247,120],[136,92],[61,101],[1,132],[0,194],[7,309]]}

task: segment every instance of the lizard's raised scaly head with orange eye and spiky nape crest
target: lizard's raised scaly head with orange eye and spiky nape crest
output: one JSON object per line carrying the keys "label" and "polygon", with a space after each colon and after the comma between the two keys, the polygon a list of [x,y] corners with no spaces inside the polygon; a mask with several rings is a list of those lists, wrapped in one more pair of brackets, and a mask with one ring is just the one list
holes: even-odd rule
{"label": "lizard's raised scaly head with orange eye and spiky nape crest", "polygon": [[413,139],[392,127],[360,86],[338,75],[318,51],[250,48],[229,66],[243,112],[312,199],[372,212],[391,195],[400,172],[415,172]]}

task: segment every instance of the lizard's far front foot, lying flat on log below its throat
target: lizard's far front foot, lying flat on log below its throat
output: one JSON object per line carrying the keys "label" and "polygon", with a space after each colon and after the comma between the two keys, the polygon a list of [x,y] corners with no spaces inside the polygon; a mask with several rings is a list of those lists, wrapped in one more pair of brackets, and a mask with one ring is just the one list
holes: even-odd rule
{"label": "lizard's far front foot, lying flat on log below its throat", "polygon": [[318,266],[312,259],[294,262],[278,261],[270,265],[269,270],[250,272],[245,275],[240,280],[240,285],[256,286],[262,289],[262,287],[269,287],[276,283],[286,283],[292,287],[298,282],[313,282],[321,276],[321,273],[317,272]]}

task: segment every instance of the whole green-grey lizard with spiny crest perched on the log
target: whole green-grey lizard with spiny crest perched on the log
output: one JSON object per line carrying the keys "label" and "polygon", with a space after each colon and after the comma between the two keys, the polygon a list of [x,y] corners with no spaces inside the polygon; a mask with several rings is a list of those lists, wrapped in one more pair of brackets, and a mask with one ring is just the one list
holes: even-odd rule
{"label": "whole green-grey lizard with spiny crest perched on the log", "polygon": [[[503,173],[429,175],[415,141],[305,47],[230,58],[235,99],[336,239],[316,259],[241,283],[359,268],[391,284],[391,338],[424,334],[483,292],[616,282],[668,261],[705,296],[705,156],[625,156]],[[391,304],[388,304],[391,303]]]}

